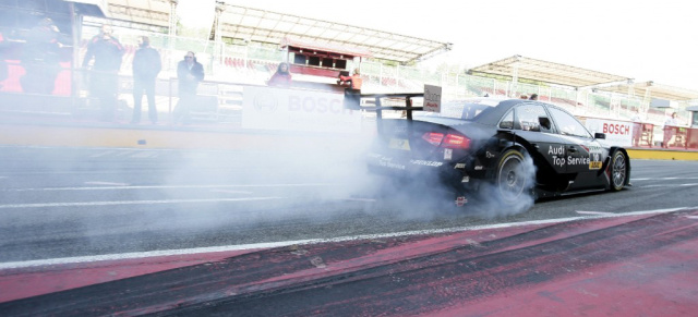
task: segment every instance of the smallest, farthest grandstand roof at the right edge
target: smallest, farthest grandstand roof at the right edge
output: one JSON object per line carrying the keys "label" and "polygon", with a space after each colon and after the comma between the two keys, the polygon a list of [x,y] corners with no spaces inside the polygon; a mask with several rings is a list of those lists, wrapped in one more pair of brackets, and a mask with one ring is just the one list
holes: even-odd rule
{"label": "smallest, farthest grandstand roof at the right edge", "polygon": [[690,90],[679,87],[655,84],[654,82],[627,83],[605,87],[599,87],[598,90],[627,94],[628,90],[634,92],[637,96],[646,98],[658,98],[673,101],[688,101],[698,99],[698,90]]}

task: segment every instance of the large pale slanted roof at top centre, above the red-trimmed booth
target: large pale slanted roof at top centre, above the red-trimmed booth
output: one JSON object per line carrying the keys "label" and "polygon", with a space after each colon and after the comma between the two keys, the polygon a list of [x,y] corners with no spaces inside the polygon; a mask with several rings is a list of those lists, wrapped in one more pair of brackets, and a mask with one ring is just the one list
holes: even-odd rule
{"label": "large pale slanted roof at top centre, above the red-trimmed booth", "polygon": [[450,49],[450,44],[330,21],[226,4],[221,36],[240,41],[280,44],[284,38],[321,46],[354,47],[372,58],[409,64]]}

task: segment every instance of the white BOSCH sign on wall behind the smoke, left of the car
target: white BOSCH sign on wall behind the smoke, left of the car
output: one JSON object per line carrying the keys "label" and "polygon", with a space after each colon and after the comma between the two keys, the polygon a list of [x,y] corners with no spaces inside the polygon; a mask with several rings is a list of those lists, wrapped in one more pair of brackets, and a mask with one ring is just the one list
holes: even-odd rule
{"label": "white BOSCH sign on wall behind the smoke, left of the car", "polygon": [[242,127],[359,133],[361,113],[345,109],[341,94],[244,87]]}

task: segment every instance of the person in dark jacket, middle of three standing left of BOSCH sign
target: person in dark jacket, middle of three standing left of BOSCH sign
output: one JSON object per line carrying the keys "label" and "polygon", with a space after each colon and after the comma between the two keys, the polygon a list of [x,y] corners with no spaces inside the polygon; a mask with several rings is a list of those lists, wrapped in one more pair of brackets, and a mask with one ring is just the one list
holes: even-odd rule
{"label": "person in dark jacket, middle of three standing left of BOSCH sign", "polygon": [[139,38],[139,50],[133,56],[133,118],[131,123],[141,121],[141,105],[143,92],[148,100],[148,118],[153,124],[157,123],[157,108],[155,106],[155,81],[163,70],[160,53],[151,47],[147,36]]}

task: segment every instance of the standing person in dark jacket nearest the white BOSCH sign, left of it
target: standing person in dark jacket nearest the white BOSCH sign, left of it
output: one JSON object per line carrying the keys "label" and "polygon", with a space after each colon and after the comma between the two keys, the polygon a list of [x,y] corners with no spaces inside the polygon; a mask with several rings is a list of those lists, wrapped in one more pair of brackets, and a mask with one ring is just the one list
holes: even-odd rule
{"label": "standing person in dark jacket nearest the white BOSCH sign, left of it", "polygon": [[174,122],[189,123],[189,112],[196,102],[198,82],[204,80],[204,65],[196,61],[196,56],[188,51],[184,60],[177,64],[179,78],[179,102],[174,109]]}

